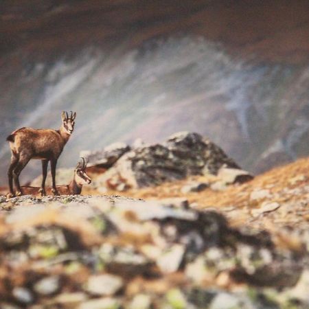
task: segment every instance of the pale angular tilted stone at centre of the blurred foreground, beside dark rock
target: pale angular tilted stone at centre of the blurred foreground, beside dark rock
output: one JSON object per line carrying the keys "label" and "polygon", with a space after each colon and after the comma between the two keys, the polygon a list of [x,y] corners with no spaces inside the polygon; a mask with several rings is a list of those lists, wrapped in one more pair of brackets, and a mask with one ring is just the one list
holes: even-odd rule
{"label": "pale angular tilted stone at centre of the blurred foreground, beside dark rock", "polygon": [[163,273],[174,273],[178,270],[184,253],[185,247],[182,244],[174,244],[158,258],[157,266]]}

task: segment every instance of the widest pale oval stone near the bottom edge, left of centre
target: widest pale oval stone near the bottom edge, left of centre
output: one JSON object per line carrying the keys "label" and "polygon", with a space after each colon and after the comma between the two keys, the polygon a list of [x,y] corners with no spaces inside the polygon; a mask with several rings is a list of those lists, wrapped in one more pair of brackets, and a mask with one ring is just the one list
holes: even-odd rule
{"label": "widest pale oval stone near the bottom edge, left of centre", "polygon": [[92,275],[86,290],[93,295],[113,295],[123,286],[121,277],[115,275]]}

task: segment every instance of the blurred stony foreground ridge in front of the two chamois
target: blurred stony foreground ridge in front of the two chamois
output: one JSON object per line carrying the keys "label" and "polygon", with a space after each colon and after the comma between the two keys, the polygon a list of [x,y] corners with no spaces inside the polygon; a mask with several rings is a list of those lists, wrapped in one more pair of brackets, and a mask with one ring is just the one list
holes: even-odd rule
{"label": "blurred stony foreground ridge in front of the two chamois", "polygon": [[23,196],[0,205],[1,308],[309,306],[306,233],[277,247],[264,231],[175,201]]}

